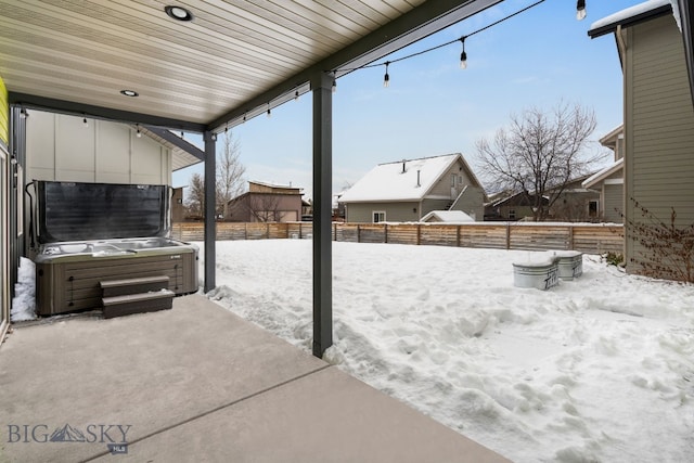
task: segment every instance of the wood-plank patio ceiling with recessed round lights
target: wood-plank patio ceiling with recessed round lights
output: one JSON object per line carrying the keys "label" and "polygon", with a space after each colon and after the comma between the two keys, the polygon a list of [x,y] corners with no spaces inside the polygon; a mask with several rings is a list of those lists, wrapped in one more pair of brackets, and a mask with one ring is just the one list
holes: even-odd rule
{"label": "wood-plank patio ceiling with recessed round lights", "polygon": [[500,1],[0,0],[0,76],[28,108],[220,131]]}

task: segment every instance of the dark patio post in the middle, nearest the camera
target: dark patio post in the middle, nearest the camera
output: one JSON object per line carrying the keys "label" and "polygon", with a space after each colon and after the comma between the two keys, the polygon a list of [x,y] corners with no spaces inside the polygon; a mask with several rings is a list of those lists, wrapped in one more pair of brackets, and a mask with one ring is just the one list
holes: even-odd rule
{"label": "dark patio post in the middle, nearest the camera", "polygon": [[311,79],[313,92],[313,356],[333,345],[333,75]]}

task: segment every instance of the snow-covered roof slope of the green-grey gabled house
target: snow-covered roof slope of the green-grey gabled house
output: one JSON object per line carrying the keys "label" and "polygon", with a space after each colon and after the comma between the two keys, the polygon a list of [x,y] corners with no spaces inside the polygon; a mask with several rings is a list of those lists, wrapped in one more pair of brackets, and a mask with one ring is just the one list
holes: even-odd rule
{"label": "snow-covered roof slope of the green-grey gabled house", "polygon": [[420,201],[458,159],[465,163],[460,153],[454,153],[380,164],[347,190],[339,202]]}

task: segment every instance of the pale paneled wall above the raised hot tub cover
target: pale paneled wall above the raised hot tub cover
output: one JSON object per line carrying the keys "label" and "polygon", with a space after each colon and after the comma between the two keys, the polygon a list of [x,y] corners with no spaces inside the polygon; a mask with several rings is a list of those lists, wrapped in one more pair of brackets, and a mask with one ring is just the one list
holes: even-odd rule
{"label": "pale paneled wall above the raised hot tub cover", "polygon": [[171,184],[171,153],[124,124],[29,111],[26,178]]}

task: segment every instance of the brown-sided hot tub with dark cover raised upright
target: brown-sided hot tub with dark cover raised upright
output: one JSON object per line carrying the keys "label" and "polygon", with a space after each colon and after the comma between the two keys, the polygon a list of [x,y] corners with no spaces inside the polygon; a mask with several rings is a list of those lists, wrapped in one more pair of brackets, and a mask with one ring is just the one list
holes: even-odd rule
{"label": "brown-sided hot tub with dark cover raised upright", "polygon": [[168,197],[165,185],[37,182],[37,313],[103,308],[113,282],[196,292],[198,249],[167,236]]}

